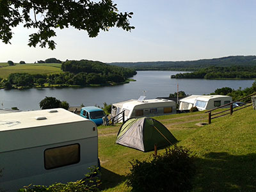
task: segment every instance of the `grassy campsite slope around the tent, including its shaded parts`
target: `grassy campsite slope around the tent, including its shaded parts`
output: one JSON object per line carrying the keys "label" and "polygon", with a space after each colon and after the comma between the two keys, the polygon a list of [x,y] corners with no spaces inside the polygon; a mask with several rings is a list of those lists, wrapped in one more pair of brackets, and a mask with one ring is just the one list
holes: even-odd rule
{"label": "grassy campsite slope around the tent, including its shaded parts", "polygon": [[[250,108],[232,116],[207,122],[204,111],[159,116],[179,140],[196,155],[197,174],[193,191],[256,191],[256,111]],[[102,165],[102,191],[131,191],[125,185],[132,159],[147,159],[153,152],[115,144],[120,125],[99,127],[99,157]],[[159,150],[163,152],[163,150]]]}

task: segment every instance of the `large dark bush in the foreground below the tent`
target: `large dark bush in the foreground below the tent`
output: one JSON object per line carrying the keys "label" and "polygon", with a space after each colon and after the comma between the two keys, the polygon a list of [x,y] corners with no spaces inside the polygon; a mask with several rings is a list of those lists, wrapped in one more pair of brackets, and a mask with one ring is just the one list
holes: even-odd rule
{"label": "large dark bush in the foreground below the tent", "polygon": [[150,161],[133,160],[127,185],[132,191],[190,191],[195,175],[194,156],[188,149],[166,148]]}

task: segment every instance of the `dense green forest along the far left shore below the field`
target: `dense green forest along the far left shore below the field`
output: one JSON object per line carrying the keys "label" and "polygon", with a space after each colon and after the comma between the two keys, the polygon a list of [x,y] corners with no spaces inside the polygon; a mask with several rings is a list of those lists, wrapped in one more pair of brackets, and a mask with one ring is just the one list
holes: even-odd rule
{"label": "dense green forest along the far left shore below the field", "polygon": [[65,61],[60,74],[13,73],[7,79],[0,79],[0,87],[32,88],[35,86],[89,86],[92,84],[125,83],[128,77],[136,74],[131,68],[116,67],[99,61]]}

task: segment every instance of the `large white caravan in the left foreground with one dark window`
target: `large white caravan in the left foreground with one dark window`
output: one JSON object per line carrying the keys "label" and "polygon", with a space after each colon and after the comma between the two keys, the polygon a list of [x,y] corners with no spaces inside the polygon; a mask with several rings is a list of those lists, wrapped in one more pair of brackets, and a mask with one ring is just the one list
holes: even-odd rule
{"label": "large white caravan in the left foreground with one dark window", "polygon": [[61,108],[0,115],[1,190],[76,181],[92,166],[99,166],[92,121]]}

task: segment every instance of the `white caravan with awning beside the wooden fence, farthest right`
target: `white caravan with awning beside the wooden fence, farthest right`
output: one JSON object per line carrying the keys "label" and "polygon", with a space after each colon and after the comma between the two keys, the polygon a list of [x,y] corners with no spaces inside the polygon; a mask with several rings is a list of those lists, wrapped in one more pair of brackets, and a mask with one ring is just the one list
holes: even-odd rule
{"label": "white caravan with awning beside the wooden fence, farthest right", "polygon": [[[232,97],[226,95],[190,95],[180,99],[179,110],[189,110],[192,107],[199,111],[209,110],[223,106],[232,102]],[[229,108],[225,106],[224,108]]]}

